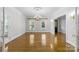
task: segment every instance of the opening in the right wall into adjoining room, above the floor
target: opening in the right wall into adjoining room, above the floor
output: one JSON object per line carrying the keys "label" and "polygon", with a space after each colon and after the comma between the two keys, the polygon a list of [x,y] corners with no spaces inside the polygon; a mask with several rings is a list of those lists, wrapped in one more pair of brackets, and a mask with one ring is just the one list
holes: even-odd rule
{"label": "opening in the right wall into adjoining room, above the floor", "polygon": [[66,34],[66,15],[55,19],[55,34],[58,32]]}

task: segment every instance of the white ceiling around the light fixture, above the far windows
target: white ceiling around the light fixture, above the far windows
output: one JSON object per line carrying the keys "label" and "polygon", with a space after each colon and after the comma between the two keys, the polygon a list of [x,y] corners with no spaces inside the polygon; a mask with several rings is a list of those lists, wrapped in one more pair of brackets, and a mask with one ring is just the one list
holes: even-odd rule
{"label": "white ceiling around the light fixture, above the far windows", "polygon": [[42,17],[50,18],[51,15],[55,14],[60,7],[41,7],[39,11],[36,11],[34,7],[17,7],[26,17],[34,17],[40,15]]}

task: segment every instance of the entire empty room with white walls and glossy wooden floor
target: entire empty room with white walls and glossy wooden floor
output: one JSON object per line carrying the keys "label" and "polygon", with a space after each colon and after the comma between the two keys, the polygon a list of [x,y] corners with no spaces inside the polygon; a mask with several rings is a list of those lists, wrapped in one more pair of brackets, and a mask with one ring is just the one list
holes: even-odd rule
{"label": "entire empty room with white walls and glossy wooden floor", "polygon": [[75,52],[79,49],[75,7],[5,7],[0,12],[1,51]]}

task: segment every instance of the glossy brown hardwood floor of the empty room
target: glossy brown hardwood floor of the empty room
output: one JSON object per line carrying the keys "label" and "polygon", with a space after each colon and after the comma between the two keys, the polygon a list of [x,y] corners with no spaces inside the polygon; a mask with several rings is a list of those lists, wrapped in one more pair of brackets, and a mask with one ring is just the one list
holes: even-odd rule
{"label": "glossy brown hardwood floor of the empty room", "polygon": [[[30,35],[34,35],[34,39],[30,41]],[[41,35],[46,35],[46,44],[43,45],[41,42]],[[9,42],[8,51],[14,52],[66,52],[74,51],[74,47],[65,41],[65,35],[58,33],[56,36],[49,32],[27,32],[15,40]]]}

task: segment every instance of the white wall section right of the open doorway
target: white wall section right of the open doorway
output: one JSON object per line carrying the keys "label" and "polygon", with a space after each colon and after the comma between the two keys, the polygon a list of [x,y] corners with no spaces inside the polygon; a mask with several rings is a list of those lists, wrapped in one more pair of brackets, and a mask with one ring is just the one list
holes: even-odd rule
{"label": "white wall section right of the open doorway", "polygon": [[[73,11],[72,11],[73,12]],[[67,15],[66,15],[66,18],[67,18],[67,20],[66,20],[66,27],[67,27],[67,31],[66,31],[66,33],[67,33],[67,35],[66,35],[66,38],[67,38],[67,42],[69,42],[70,44],[72,44],[73,46],[75,46],[76,45],[76,37],[75,37],[75,34],[76,34],[76,28],[75,28],[75,19],[72,19],[71,18],[71,13],[72,12],[70,12],[70,13],[68,13]],[[75,10],[74,10],[74,12],[75,12]]]}

